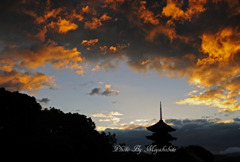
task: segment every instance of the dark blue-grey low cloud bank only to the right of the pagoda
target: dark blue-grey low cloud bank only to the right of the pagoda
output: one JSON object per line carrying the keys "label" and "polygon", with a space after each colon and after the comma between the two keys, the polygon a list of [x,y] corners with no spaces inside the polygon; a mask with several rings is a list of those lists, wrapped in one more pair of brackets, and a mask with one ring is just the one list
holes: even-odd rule
{"label": "dark blue-grey low cloud bank only to the right of the pagoda", "polygon": [[214,123],[209,121],[193,121],[182,126],[176,125],[173,133],[178,137],[176,145],[201,145],[212,152],[224,151],[229,147],[239,147],[239,123]]}

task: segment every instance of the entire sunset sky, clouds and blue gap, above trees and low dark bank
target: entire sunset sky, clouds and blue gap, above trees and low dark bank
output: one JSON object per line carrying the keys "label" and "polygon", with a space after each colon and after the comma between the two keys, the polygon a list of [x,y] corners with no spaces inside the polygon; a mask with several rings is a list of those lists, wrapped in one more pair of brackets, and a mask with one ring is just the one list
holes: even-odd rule
{"label": "entire sunset sky, clouds and blue gap, above trees and low dark bank", "polygon": [[237,0],[5,0],[0,87],[91,117],[98,130],[164,119],[235,122]]}

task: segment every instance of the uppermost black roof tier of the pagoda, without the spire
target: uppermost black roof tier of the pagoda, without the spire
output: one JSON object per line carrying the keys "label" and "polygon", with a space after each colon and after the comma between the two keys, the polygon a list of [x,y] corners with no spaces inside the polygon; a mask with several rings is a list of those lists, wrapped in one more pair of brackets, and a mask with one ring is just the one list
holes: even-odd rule
{"label": "uppermost black roof tier of the pagoda, without the spire", "polygon": [[163,120],[159,120],[156,124],[147,127],[147,129],[152,132],[172,132],[176,130],[164,123]]}

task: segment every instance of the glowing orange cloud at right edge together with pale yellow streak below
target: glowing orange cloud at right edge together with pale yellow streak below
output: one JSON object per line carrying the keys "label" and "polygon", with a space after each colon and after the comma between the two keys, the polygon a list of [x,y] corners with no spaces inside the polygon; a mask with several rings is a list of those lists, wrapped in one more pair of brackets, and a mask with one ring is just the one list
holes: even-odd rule
{"label": "glowing orange cloud at right edge together with pale yellow streak below", "polygon": [[177,103],[213,106],[224,111],[240,110],[237,100],[240,95],[240,32],[226,27],[215,34],[203,34],[201,51],[206,57],[198,59],[192,67],[189,82],[210,89]]}

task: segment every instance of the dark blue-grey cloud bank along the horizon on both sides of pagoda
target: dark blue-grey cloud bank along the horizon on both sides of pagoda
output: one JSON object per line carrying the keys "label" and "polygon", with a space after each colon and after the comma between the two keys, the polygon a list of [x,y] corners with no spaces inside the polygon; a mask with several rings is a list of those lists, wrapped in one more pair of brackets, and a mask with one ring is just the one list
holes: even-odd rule
{"label": "dark blue-grey cloud bank along the horizon on both sides of pagoda", "polygon": [[[177,137],[177,140],[172,142],[173,145],[200,145],[213,153],[224,153],[229,148],[240,147],[237,142],[240,136],[238,119],[233,123],[217,123],[216,121],[220,122],[219,119],[212,121],[205,119],[166,120],[166,122],[173,124],[172,127],[176,128],[176,131],[171,133]],[[118,143],[126,143],[131,147],[139,144],[145,146],[151,143],[145,138],[151,132],[144,127],[127,130],[106,129],[105,131],[116,133]]]}

